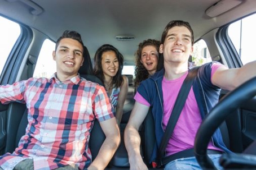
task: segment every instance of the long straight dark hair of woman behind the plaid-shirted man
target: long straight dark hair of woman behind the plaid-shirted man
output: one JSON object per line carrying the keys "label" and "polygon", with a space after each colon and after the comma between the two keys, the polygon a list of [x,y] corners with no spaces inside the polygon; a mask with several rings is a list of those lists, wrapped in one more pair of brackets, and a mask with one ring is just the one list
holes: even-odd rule
{"label": "long straight dark hair of woman behind the plaid-shirted man", "polygon": [[104,74],[103,74],[103,70],[102,70],[102,66],[101,66],[101,60],[102,60],[102,54],[104,52],[108,52],[108,51],[112,51],[112,52],[116,53],[117,60],[119,63],[118,71],[112,79],[111,86],[112,87],[120,87],[123,83],[123,78],[122,78],[123,55],[118,51],[118,49],[113,47],[113,45],[104,44],[104,45],[101,45],[100,48],[98,48],[98,50],[96,51],[95,56],[94,56],[93,72],[94,72],[95,76],[97,76],[102,82],[104,82],[105,78],[104,78]]}

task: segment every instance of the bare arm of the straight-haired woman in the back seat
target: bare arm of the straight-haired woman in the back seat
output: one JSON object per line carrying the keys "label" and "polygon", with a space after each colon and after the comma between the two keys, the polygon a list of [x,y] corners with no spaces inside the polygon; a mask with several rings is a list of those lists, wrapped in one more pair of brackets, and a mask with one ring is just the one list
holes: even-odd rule
{"label": "bare arm of the straight-haired woman in the back seat", "polygon": [[117,119],[118,125],[122,120],[123,104],[125,104],[127,93],[128,93],[128,79],[126,76],[123,76],[123,84],[120,87],[120,93],[118,94],[118,102],[117,102],[117,108],[116,108],[116,119]]}

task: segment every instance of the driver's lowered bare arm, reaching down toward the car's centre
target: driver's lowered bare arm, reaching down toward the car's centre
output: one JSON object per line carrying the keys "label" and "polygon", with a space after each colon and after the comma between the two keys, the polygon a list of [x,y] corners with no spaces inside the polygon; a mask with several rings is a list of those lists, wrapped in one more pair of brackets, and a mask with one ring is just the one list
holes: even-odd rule
{"label": "driver's lowered bare arm, reaching down toward the car's centre", "polygon": [[135,102],[129,122],[125,128],[124,139],[130,169],[148,169],[140,155],[140,135],[138,132],[140,125],[142,125],[142,122],[148,114],[148,109],[148,106]]}

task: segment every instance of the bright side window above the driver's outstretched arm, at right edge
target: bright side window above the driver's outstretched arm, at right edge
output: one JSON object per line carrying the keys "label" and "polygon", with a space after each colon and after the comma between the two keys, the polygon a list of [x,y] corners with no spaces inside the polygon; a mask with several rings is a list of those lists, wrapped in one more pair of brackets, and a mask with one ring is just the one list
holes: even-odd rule
{"label": "bright side window above the driver's outstretched arm, at right edge", "polygon": [[253,24],[254,22],[256,22],[256,14],[236,21],[228,27],[228,36],[235,46],[243,65],[256,59],[253,53],[256,45],[254,42],[256,39],[256,25]]}

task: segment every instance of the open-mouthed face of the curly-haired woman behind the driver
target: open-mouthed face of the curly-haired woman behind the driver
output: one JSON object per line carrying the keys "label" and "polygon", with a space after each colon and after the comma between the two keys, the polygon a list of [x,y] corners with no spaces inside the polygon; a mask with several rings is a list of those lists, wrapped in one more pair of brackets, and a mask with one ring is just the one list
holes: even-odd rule
{"label": "open-mouthed face of the curly-haired woman behind the driver", "polygon": [[158,63],[158,52],[153,45],[145,46],[142,49],[142,56],[140,56],[140,62],[148,71],[149,75],[153,75],[156,72]]}

